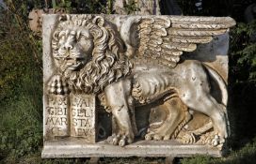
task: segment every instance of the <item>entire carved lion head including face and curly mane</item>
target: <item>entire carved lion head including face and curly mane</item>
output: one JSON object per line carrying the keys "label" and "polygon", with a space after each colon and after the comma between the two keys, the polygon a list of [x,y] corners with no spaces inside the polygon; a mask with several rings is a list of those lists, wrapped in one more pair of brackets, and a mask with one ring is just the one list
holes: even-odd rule
{"label": "entire carved lion head including face and curly mane", "polygon": [[52,48],[56,71],[73,92],[97,94],[131,71],[117,29],[101,16],[61,16]]}

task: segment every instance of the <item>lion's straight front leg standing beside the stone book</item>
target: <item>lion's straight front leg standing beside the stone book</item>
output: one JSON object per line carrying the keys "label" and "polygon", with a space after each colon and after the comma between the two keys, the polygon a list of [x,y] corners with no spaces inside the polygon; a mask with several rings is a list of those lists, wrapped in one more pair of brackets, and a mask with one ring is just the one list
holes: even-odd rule
{"label": "lion's straight front leg standing beside the stone book", "polygon": [[126,79],[111,83],[104,89],[106,105],[111,110],[116,123],[111,142],[120,146],[134,142],[135,138],[134,113],[131,113],[134,110],[131,109],[134,108],[131,88],[131,81]]}

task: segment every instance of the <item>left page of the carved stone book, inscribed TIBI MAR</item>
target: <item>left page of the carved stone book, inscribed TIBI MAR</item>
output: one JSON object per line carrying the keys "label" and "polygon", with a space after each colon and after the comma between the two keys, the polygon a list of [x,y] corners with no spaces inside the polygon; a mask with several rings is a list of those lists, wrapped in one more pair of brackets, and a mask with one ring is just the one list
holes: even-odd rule
{"label": "left page of the carved stone book, inscribed TIBI MAR", "polygon": [[45,111],[46,136],[69,136],[69,97],[61,95],[48,95]]}

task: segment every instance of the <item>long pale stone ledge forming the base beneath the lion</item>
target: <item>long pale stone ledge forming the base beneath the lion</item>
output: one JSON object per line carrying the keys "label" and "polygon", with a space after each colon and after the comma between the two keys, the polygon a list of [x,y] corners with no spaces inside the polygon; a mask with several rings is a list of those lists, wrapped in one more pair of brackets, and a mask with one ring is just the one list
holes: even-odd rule
{"label": "long pale stone ledge forming the base beneath the lion", "polygon": [[87,143],[82,139],[45,141],[42,158],[56,157],[222,157],[223,151],[199,144],[175,141],[139,141],[124,147],[107,142]]}

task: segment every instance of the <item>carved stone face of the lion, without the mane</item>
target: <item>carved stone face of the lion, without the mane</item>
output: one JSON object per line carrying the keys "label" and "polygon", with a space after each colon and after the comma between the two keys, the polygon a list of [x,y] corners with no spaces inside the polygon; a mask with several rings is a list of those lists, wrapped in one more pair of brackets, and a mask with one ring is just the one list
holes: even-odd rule
{"label": "carved stone face of the lion, without the mane", "polygon": [[78,71],[91,59],[93,38],[87,29],[64,29],[55,37],[53,56],[61,72]]}

